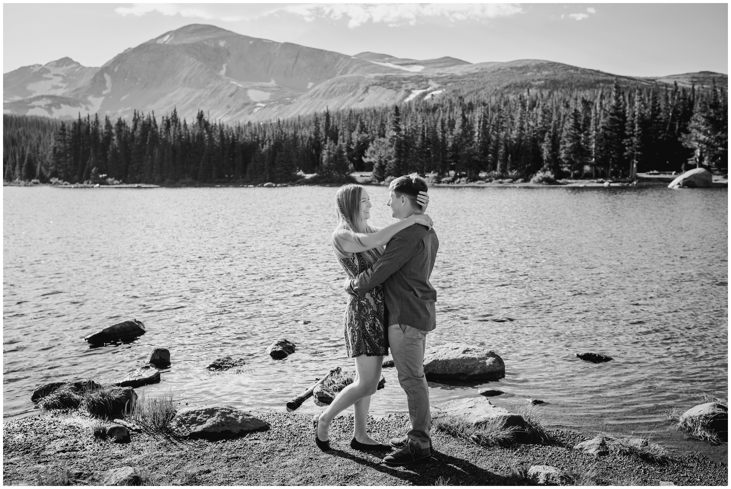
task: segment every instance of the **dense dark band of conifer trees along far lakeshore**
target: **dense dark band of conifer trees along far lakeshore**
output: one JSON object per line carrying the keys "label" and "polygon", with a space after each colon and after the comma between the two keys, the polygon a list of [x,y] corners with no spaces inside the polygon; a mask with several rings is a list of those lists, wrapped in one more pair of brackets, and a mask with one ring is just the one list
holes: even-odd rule
{"label": "dense dark band of conifer trees along far lakeshore", "polygon": [[436,181],[632,178],[693,166],[727,172],[727,90],[674,86],[445,97],[267,123],[135,112],[75,121],[4,115],[5,181],[346,181],[418,172]]}

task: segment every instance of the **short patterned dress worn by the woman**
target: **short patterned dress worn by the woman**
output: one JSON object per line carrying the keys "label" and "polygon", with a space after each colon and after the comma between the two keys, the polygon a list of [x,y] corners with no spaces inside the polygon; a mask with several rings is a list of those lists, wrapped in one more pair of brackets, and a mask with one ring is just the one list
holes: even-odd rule
{"label": "short patterned dress worn by the woman", "polygon": [[[350,278],[355,278],[370,265],[360,253],[353,253],[348,258],[338,257],[340,265]],[[363,297],[348,296],[345,308],[345,346],[348,357],[360,355],[374,357],[388,355],[388,344],[385,327],[385,306],[383,287],[378,285],[366,292]]]}

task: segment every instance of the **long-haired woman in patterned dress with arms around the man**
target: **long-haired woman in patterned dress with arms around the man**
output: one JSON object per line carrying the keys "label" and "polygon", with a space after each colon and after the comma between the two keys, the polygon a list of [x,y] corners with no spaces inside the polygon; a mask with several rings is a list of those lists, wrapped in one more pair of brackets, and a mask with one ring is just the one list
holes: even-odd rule
{"label": "long-haired woman in patterned dress with arms around the man", "polygon": [[[429,197],[426,192],[420,193],[417,202],[425,210]],[[373,207],[370,197],[366,189],[352,183],[341,186],[335,200],[338,225],[333,232],[332,245],[350,278],[370,268],[382,253],[382,246],[397,232],[413,224],[430,228],[433,224],[426,214],[414,214],[382,230],[369,226],[367,221]],[[330,406],[312,420],[315,443],[321,450],[330,450],[330,437],[327,435],[330,422],[349,406],[353,406],[355,411],[350,446],[364,451],[391,449],[368,436],[366,428],[371,395],[376,392],[381,379],[383,357],[388,355],[384,312],[383,288],[380,285],[363,297],[349,297],[344,314],[345,344],[348,357],[355,358],[355,381],[341,390]]]}

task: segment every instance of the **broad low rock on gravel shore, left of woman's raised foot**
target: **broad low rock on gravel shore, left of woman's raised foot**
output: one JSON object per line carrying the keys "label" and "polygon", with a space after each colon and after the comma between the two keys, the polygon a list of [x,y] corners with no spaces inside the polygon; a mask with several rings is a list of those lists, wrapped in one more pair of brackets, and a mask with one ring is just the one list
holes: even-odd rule
{"label": "broad low rock on gravel shore, left of woman's raised foot", "polygon": [[265,421],[225,404],[181,409],[171,426],[189,438],[221,439],[268,428]]}

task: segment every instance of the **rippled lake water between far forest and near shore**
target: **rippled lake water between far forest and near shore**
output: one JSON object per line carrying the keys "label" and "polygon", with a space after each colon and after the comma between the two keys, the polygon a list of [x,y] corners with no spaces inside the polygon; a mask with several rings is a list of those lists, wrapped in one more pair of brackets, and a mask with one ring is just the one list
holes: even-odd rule
{"label": "rippled lake water between far forest and near shore", "polygon": [[[153,346],[173,365],[147,395],[283,411],[345,357],[344,272],[327,244],[331,187],[57,189],[4,187],[4,417],[34,408],[32,388],[72,376],[113,380]],[[371,221],[393,221],[368,187]],[[494,349],[507,375],[491,398],[546,401],[549,425],[687,441],[664,410],[727,397],[727,189],[434,188],[439,235],[428,344]],[[512,322],[485,319],[508,316]],[[124,319],[148,333],[90,349],[83,336]],[[482,320],[482,321],[481,321]],[[300,324],[300,321],[310,321]],[[271,360],[288,338],[298,351]],[[614,357],[594,365],[575,352]],[[221,355],[238,374],[208,374]],[[403,412],[393,369],[374,414]],[[434,404],[477,395],[430,384]],[[485,387],[482,384],[478,387]],[[307,401],[301,412],[319,409]]]}

